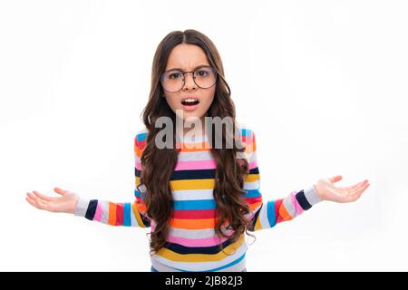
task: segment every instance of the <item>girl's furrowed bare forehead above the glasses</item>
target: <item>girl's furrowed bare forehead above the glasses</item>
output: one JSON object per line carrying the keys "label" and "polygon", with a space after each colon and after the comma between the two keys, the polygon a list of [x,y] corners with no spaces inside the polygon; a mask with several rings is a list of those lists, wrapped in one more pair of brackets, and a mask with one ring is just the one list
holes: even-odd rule
{"label": "girl's furrowed bare forehead above the glasses", "polygon": [[181,43],[176,45],[166,64],[166,71],[172,68],[190,70],[197,65],[209,65],[207,56],[198,45]]}

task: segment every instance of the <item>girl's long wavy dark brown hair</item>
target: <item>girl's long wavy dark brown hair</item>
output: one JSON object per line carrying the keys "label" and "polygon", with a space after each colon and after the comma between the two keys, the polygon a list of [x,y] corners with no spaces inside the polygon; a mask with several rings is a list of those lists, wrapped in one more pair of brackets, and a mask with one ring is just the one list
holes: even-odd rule
{"label": "girl's long wavy dark brown hair", "polygon": [[[214,43],[206,35],[193,29],[184,32],[173,31],[167,34],[159,43],[154,54],[149,102],[142,111],[142,119],[148,130],[148,137],[146,147],[141,154],[141,184],[138,188],[142,184],[145,186],[144,202],[147,214],[156,222],[155,230],[151,232],[151,252],[157,252],[166,245],[169,222],[173,212],[170,177],[176,167],[179,149],[176,149],[176,146],[173,146],[172,149],[158,149],[154,140],[160,131],[160,128],[155,128],[155,122],[160,117],[170,117],[173,121],[173,131],[175,131],[176,115],[170,109],[166,99],[162,97],[164,92],[160,84],[160,75],[165,71],[171,50],[180,43],[198,45],[206,53],[209,64],[217,71],[215,96],[206,116],[221,119],[230,117],[233,132],[237,130],[235,106],[230,97],[231,91],[228,83],[224,78],[221,58]],[[241,198],[241,194],[246,193],[242,188],[245,176],[248,174],[248,161],[237,158],[237,152],[245,150],[237,135],[233,137],[233,148],[227,149],[224,148],[225,142],[227,138],[230,138],[231,132],[223,128],[221,136],[215,136],[216,133],[214,124],[212,124],[209,139],[210,152],[217,163],[214,198],[217,202],[218,221],[215,231],[219,237],[229,237],[231,242],[235,242],[244,232],[248,234],[248,219],[244,215],[249,213],[249,208],[248,203]],[[220,149],[214,146],[217,137],[222,138],[223,146]],[[175,140],[176,135],[174,134],[173,145]],[[163,164],[166,166],[163,167]],[[224,225],[228,225],[226,228],[233,230],[230,236],[223,232],[222,226]]]}

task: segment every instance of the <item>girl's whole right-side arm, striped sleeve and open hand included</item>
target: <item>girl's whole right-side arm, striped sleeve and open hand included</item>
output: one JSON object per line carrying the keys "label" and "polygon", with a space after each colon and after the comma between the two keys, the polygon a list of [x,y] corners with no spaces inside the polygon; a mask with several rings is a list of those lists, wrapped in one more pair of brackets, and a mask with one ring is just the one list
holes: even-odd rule
{"label": "girl's whole right-side arm, striped sleeve and open hand included", "polygon": [[250,209],[248,218],[251,226],[249,230],[275,227],[280,222],[296,218],[323,200],[338,203],[354,202],[370,186],[368,179],[364,179],[353,186],[335,187],[335,182],[343,179],[342,176],[337,175],[332,178],[318,179],[316,184],[306,189],[292,191],[286,198],[264,201],[259,191],[260,178],[257,168],[255,134],[253,131],[244,130],[242,139],[246,145],[245,156],[249,163],[249,174],[243,187],[247,191],[243,197],[246,198]]}

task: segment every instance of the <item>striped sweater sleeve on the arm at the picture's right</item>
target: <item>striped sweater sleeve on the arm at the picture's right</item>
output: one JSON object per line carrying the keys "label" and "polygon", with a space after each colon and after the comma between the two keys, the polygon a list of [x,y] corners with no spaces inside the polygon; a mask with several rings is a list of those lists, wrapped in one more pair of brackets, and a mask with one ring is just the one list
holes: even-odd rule
{"label": "striped sweater sleeve on the arm at the picture's right", "polygon": [[290,192],[286,198],[263,200],[259,191],[260,175],[257,167],[255,134],[251,130],[244,129],[242,139],[246,146],[245,155],[249,163],[249,174],[243,187],[247,191],[243,197],[250,208],[248,218],[251,220],[251,227],[249,227],[249,230],[256,231],[275,227],[277,223],[296,218],[321,201],[313,184],[306,189]]}

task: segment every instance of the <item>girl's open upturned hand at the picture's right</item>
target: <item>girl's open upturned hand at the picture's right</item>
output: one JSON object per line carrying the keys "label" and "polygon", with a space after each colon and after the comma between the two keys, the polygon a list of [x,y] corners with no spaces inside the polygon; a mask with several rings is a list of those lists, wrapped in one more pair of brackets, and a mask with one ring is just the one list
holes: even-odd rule
{"label": "girl's open upturned hand at the picture's right", "polygon": [[341,179],[343,178],[340,175],[330,179],[319,179],[315,184],[319,198],[341,203],[352,202],[360,198],[364,190],[370,186],[368,179],[365,179],[351,187],[336,188],[334,183]]}

